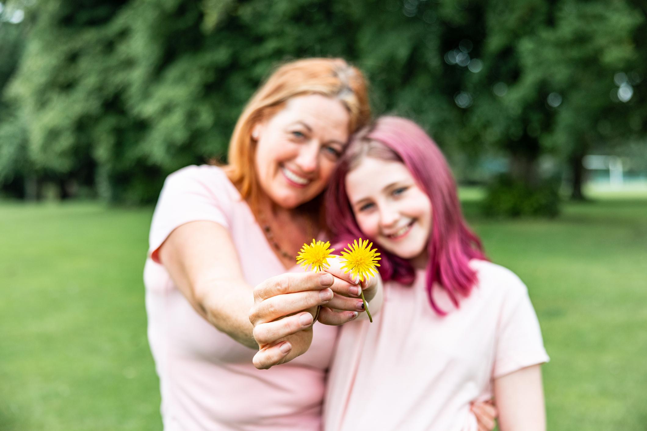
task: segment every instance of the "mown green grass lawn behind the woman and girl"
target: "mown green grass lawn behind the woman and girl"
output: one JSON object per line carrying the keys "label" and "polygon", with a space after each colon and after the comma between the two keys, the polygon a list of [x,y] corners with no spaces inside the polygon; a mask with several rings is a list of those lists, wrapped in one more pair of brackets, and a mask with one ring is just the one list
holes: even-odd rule
{"label": "mown green grass lawn behind the woman and girl", "polygon": [[[647,429],[647,195],[556,220],[468,219],[529,286],[549,430]],[[154,430],[142,267],[151,208],[0,203],[0,430]]]}

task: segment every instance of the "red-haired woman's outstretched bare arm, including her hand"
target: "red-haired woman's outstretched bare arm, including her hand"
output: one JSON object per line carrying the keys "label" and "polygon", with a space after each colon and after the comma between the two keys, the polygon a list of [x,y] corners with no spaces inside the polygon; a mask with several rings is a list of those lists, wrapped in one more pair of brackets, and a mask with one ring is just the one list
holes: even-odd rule
{"label": "red-haired woman's outstretched bare arm, including her hand", "polygon": [[[331,289],[347,291],[350,286],[336,277],[286,273],[255,289],[243,278],[228,230],[209,221],[177,227],[160,247],[159,258],[197,313],[237,342],[261,348],[254,358],[258,368],[305,353],[312,340],[316,307],[332,299]],[[254,258],[253,251],[243,258]],[[267,343],[267,339],[275,342]]]}

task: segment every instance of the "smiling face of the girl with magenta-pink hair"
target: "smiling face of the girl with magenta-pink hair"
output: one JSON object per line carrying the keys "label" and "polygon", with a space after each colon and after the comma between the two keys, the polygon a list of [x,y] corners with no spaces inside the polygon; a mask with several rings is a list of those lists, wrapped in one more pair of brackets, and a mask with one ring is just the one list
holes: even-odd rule
{"label": "smiling face of the girl with magenta-pink hair", "polygon": [[432,203],[403,163],[364,157],[345,185],[362,232],[394,255],[426,264]]}

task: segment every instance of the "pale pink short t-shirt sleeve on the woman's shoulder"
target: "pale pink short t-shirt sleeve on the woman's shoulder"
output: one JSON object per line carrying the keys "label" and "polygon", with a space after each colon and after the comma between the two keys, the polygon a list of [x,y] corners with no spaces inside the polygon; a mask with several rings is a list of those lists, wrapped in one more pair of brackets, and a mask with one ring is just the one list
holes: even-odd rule
{"label": "pale pink short t-shirt sleeve on the woman's shoulder", "polygon": [[148,255],[159,263],[159,249],[177,227],[211,221],[229,229],[232,202],[225,173],[214,166],[188,166],[170,174],[155,206]]}

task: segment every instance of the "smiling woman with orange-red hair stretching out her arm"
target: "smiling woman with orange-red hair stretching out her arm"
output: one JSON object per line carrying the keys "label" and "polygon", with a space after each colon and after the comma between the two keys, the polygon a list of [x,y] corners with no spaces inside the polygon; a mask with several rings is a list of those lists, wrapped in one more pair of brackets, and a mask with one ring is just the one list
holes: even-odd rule
{"label": "smiling woman with orange-red hair stretching out her arm", "polygon": [[243,110],[228,165],[168,176],[144,269],[165,430],[320,429],[337,331],[313,322],[354,319],[362,300],[339,295],[358,293],[347,276],[291,268],[324,230],[322,192],[368,120],[358,69],[294,61]]}

